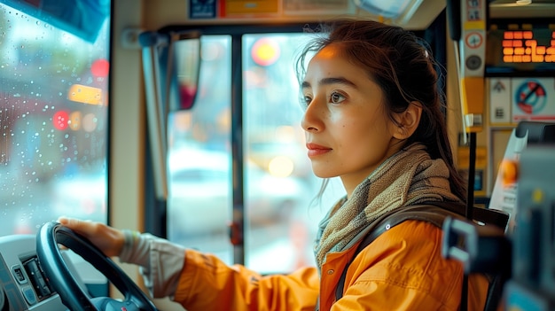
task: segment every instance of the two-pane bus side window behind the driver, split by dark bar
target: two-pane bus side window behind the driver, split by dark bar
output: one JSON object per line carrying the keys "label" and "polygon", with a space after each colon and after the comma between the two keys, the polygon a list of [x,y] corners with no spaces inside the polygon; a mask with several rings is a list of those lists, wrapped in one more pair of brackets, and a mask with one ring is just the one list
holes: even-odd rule
{"label": "two-pane bus side window behind the driver, split by dark bar", "polygon": [[[261,273],[313,263],[317,222],[341,194],[312,204],[321,181],[306,155],[293,70],[306,39],[242,36],[245,263]],[[231,36],[204,35],[197,102],[170,115],[168,126],[168,238],[227,263],[233,263],[231,83]]]}

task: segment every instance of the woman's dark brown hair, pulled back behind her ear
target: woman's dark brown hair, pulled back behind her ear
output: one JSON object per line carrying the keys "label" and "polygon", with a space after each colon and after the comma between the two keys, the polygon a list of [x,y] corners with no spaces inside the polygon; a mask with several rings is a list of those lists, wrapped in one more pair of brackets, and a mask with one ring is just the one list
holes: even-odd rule
{"label": "woman's dark brown hair, pulled back behind her ear", "polygon": [[465,201],[465,181],[453,163],[443,113],[444,95],[438,87],[440,75],[436,67],[439,65],[427,43],[402,27],[371,20],[341,19],[321,27],[312,31],[319,35],[301,51],[297,60],[300,81],[309,54],[333,44],[340,47],[342,56],[366,68],[369,79],[382,89],[384,104],[393,121],[395,113],[402,113],[412,102],[418,102],[422,105],[420,123],[405,145],[424,144],[432,159],[443,159],[449,167],[451,191]]}

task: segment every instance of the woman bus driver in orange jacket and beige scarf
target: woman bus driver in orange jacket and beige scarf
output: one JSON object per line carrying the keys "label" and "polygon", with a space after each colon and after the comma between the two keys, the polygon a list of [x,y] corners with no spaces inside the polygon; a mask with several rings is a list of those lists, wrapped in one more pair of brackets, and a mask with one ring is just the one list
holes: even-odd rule
{"label": "woman bus driver in orange jacket and beige scarf", "polygon": [[[434,60],[416,36],[374,21],[338,21],[299,59],[306,105],[301,125],[322,178],[339,176],[347,196],[332,205],[315,241],[317,267],[260,276],[214,255],[149,234],[60,218],[108,256],[141,266],[154,297],[187,310],[457,310],[463,266],[442,258],[442,229],[406,221],[387,230],[348,268],[363,229],[387,212],[431,201],[465,201],[450,152]],[[469,309],[487,282],[470,277]],[[483,290],[482,290],[483,289]]]}

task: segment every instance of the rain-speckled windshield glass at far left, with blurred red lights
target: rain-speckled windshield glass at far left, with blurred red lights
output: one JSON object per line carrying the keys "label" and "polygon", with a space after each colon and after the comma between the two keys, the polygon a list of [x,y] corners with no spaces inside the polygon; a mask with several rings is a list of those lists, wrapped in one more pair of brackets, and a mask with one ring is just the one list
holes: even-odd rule
{"label": "rain-speckled windshield glass at far left, with blurred red lights", "polygon": [[[94,18],[35,14],[49,22],[8,3],[19,6],[0,4],[0,235],[60,215],[106,222],[109,1]],[[78,29],[73,18],[93,19]]]}

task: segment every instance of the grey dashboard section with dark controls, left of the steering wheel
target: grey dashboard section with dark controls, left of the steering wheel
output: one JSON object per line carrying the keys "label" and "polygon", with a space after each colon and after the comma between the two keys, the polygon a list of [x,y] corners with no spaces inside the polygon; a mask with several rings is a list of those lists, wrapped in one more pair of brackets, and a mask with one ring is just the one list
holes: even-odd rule
{"label": "grey dashboard section with dark controls, left of the steering wheel", "polygon": [[[0,237],[0,311],[67,310],[44,275],[34,235]],[[68,268],[74,269],[66,259]]]}

